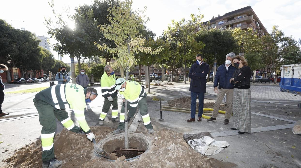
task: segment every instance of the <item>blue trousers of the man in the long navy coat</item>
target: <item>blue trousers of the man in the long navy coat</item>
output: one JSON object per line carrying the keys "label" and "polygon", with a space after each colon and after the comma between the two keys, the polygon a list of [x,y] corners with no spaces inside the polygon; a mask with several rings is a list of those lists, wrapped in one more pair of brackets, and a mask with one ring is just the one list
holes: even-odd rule
{"label": "blue trousers of the man in the long navy coat", "polygon": [[198,116],[201,117],[203,115],[205,93],[190,92],[190,95],[191,95],[190,117],[195,118],[195,109],[196,109],[196,104],[197,104],[197,96],[199,97],[199,113],[198,113]]}

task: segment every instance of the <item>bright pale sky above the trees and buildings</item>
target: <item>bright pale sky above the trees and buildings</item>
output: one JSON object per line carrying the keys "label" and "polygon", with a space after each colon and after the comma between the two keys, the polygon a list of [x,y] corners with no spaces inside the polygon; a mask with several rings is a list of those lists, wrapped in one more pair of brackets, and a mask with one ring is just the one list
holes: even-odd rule
{"label": "bright pale sky above the trees and buildings", "polygon": [[[55,9],[61,13],[74,12],[74,8],[83,4],[92,4],[92,0],[54,0]],[[286,36],[293,36],[296,40],[301,37],[301,1],[300,0],[133,0],[133,9],[147,6],[146,16],[150,18],[147,26],[160,36],[171,24],[171,20],[189,19],[191,13],[204,14],[202,21],[208,21],[213,16],[251,6],[268,32],[273,25],[279,25]],[[25,28],[39,36],[47,36],[44,18],[53,18],[52,9],[47,0],[1,0],[0,19],[4,19],[15,28]],[[72,27],[72,21],[67,21]],[[51,43],[55,43],[52,39]],[[51,51],[55,59],[57,53]],[[70,63],[65,56],[64,62]]]}

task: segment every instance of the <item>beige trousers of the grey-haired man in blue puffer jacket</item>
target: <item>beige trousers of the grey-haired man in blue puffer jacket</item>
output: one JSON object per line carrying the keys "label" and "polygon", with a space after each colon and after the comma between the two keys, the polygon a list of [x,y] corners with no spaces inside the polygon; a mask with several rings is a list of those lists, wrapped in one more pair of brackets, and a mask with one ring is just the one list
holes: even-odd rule
{"label": "beige trousers of the grey-haired man in blue puffer jacket", "polygon": [[232,103],[233,103],[233,89],[219,89],[219,93],[217,94],[214,106],[213,106],[213,112],[212,112],[212,118],[216,118],[217,113],[219,112],[219,106],[222,103],[222,100],[224,99],[224,96],[226,94],[226,113],[225,113],[225,119],[230,119],[232,115]]}

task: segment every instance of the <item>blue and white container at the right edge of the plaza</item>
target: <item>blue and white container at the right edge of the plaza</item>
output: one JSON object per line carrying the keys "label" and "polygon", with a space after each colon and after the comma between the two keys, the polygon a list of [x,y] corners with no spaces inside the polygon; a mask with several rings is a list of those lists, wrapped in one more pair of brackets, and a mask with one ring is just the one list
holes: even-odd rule
{"label": "blue and white container at the right edge of the plaza", "polygon": [[280,91],[301,95],[301,63],[281,66]]}

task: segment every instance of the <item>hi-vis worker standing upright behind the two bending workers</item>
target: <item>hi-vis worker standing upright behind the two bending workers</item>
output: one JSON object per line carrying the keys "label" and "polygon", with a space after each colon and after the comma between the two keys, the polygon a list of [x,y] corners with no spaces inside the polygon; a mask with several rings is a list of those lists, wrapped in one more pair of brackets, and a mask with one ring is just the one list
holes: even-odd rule
{"label": "hi-vis worker standing upright behind the two bending workers", "polygon": [[115,89],[115,74],[112,67],[104,66],[104,74],[101,76],[101,95],[104,97],[104,105],[99,116],[99,125],[104,125],[104,118],[106,118],[108,111],[112,107],[112,121],[117,122],[118,104],[117,104],[117,90]]}

